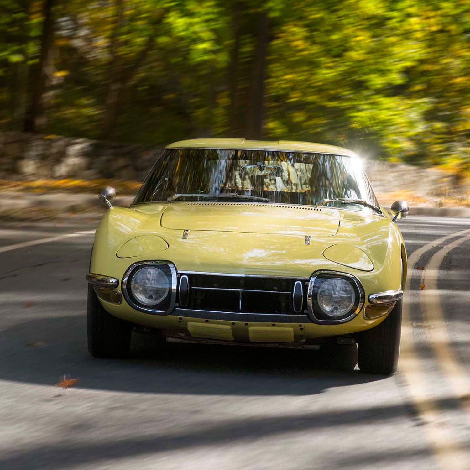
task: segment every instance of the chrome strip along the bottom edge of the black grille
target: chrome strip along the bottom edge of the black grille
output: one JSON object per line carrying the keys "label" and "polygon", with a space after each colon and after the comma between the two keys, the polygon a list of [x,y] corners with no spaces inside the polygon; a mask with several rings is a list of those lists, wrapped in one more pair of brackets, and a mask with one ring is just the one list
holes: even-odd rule
{"label": "chrome strip along the bottom edge of the black grille", "polygon": [[174,314],[180,317],[204,318],[206,320],[250,321],[266,323],[310,323],[307,315],[286,315],[284,313],[219,312],[215,310],[176,308]]}

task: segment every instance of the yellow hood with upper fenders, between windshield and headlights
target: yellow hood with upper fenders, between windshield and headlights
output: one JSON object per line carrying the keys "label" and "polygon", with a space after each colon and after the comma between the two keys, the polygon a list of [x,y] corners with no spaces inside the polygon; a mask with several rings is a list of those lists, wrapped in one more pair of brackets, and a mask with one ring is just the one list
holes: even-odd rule
{"label": "yellow hood with upper fenders, between windshield and headlights", "polygon": [[401,244],[390,218],[375,214],[268,204],[140,204],[106,212],[95,237],[100,266],[92,264],[92,269],[113,274],[107,266],[120,260],[122,275],[131,259],[164,259],[182,271],[293,277],[309,277],[317,269],[377,274],[388,272],[399,259],[395,253]]}

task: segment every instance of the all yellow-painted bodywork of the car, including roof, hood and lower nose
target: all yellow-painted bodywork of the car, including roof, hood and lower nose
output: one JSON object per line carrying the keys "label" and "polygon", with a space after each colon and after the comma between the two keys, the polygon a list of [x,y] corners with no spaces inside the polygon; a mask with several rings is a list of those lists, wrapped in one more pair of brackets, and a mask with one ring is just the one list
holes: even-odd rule
{"label": "all yellow-painted bodywork of the car, including roof, hood and lower nose", "polygon": [[[186,141],[169,148],[272,148],[354,155],[345,149],[305,142],[253,143],[239,139],[223,142]],[[187,238],[183,238],[183,230],[189,230]],[[305,244],[306,235],[311,237],[309,245]],[[370,294],[401,288],[402,258],[406,277],[403,238],[385,210],[382,216],[332,207],[314,210],[311,206],[288,204],[180,201],[113,207],[107,211],[96,230],[90,272],[115,277],[121,284],[131,264],[150,259],[171,261],[178,271],[203,273],[308,279],[320,269],[340,271],[360,280],[367,308]],[[266,328],[278,329],[276,334],[286,334],[290,341],[292,337],[294,341],[304,341],[345,335],[372,328],[386,318],[366,319],[363,308],[351,321],[342,324],[319,325],[305,317],[302,323],[276,321],[271,328],[271,321],[210,319],[206,323],[190,315],[142,313],[124,298],[120,305],[100,302],[109,313],[145,327],[173,335],[190,334],[191,328],[193,336],[211,334],[219,339],[218,335],[227,335],[227,340],[231,340],[231,334],[235,341],[261,337]],[[264,329],[252,330],[258,327]],[[281,329],[288,329],[289,333],[281,333]],[[279,338],[273,341],[281,342]]]}

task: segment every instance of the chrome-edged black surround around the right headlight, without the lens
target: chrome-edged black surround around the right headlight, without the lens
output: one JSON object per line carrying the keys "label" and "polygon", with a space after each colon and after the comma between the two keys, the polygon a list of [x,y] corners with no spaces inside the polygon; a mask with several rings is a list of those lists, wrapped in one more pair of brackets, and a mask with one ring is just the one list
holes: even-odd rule
{"label": "chrome-edged black surround around the right headlight, without the lens", "polygon": [[[317,294],[320,287],[320,283],[331,279],[340,278],[348,282],[355,293],[355,301],[351,309],[340,317],[332,317],[324,313],[317,303]],[[352,274],[342,273],[339,271],[319,270],[315,271],[309,279],[308,290],[307,290],[307,315],[313,323],[318,324],[338,324],[345,323],[346,321],[352,320],[361,310],[365,303],[364,288],[360,283],[359,279]]]}

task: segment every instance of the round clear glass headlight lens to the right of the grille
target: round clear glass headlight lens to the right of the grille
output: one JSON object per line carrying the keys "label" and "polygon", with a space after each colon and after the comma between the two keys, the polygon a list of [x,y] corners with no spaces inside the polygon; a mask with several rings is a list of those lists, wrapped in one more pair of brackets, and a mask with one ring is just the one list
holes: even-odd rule
{"label": "round clear glass headlight lens to the right of the grille", "polygon": [[340,277],[332,277],[321,283],[317,303],[329,317],[342,317],[349,313],[356,302],[352,285]]}

